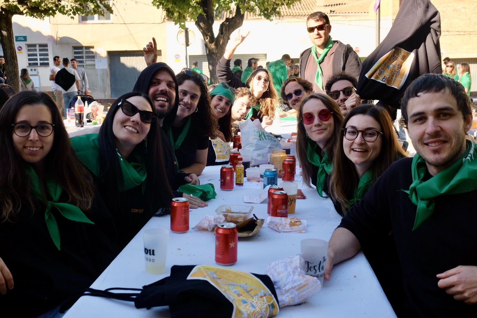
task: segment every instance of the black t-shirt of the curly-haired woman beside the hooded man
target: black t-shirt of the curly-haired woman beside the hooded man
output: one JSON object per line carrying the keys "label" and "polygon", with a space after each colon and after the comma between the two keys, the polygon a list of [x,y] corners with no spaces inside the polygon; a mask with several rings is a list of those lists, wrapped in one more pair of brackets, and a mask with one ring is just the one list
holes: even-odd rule
{"label": "black t-shirt of the curly-haired woman beside the hooded man", "polygon": [[[174,141],[177,140],[183,128],[184,125],[180,127],[171,127]],[[191,123],[187,135],[182,141],[180,147],[174,151],[179,169],[186,168],[196,162],[196,150],[208,148],[208,137],[199,131],[200,130]]]}

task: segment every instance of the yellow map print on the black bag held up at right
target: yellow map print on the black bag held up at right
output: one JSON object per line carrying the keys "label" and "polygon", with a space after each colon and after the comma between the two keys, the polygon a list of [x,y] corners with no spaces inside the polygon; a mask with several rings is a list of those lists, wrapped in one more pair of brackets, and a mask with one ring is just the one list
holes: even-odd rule
{"label": "yellow map print on the black bag held up at right", "polygon": [[406,81],[413,60],[414,53],[396,47],[380,58],[366,73],[366,77],[400,89]]}

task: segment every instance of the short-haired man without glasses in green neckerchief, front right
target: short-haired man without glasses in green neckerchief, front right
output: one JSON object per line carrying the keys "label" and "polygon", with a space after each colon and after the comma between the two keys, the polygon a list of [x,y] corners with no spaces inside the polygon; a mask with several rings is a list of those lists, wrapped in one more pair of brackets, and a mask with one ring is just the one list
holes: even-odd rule
{"label": "short-haired man without glasses in green neckerchief, front right", "polygon": [[[402,267],[399,317],[476,317],[477,144],[466,140],[472,102],[442,74],[409,85],[402,121],[417,154],[395,161],[334,231],[324,277],[389,235]],[[392,273],[390,276],[393,276]]]}

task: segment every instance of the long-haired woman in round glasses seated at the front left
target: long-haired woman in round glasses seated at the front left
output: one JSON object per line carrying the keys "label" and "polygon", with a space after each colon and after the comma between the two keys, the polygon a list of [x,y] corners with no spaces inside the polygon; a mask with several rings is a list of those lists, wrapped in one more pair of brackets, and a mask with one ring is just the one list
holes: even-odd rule
{"label": "long-haired woman in round glasses seated at the front left", "polygon": [[19,317],[52,315],[114,258],[104,234],[114,233],[114,221],[51,97],[14,95],[0,123],[1,307]]}

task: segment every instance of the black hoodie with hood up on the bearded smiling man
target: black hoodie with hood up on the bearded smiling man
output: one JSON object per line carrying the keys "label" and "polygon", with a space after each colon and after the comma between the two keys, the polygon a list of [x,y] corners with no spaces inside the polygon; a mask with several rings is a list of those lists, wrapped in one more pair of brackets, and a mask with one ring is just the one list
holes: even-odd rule
{"label": "black hoodie with hood up on the bearded smiling man", "polygon": [[[186,181],[184,178],[188,176],[187,173],[179,172],[179,168],[177,166],[177,162],[174,156],[174,150],[169,142],[169,137],[167,136],[166,132],[169,131],[169,127],[174,122],[177,113],[177,107],[179,106],[179,85],[177,84],[176,75],[174,71],[166,64],[166,63],[154,63],[147,66],[139,77],[137,78],[136,84],[134,85],[133,91],[142,92],[146,95],[149,95],[149,84],[151,83],[151,79],[160,70],[167,71],[171,76],[174,82],[176,83],[176,99],[174,100],[174,106],[172,107],[171,111],[166,115],[163,121],[162,129],[159,129],[161,138],[162,138],[162,146],[164,150],[164,163],[166,165],[166,174],[167,179],[169,180],[169,184],[173,190],[177,190],[181,185],[185,184]],[[181,197],[182,192],[174,191],[174,196]]]}

